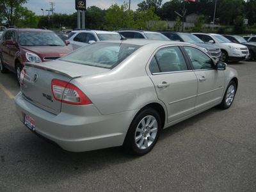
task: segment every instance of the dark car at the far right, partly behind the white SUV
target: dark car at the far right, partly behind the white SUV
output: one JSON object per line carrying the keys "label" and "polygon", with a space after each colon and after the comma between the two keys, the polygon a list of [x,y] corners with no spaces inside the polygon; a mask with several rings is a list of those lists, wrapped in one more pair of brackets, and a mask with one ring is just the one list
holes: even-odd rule
{"label": "dark car at the far right, partly behind the white SUV", "polygon": [[242,44],[248,47],[249,49],[248,60],[256,60],[256,44],[246,41],[242,36],[237,36],[237,35],[223,35],[223,36],[225,36],[225,38],[230,40],[230,42],[233,42],[236,44]]}

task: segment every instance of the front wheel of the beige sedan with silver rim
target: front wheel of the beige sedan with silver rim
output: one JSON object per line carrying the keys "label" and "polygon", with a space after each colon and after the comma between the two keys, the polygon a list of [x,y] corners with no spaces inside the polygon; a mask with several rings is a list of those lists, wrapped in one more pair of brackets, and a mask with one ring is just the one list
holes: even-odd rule
{"label": "front wheel of the beige sedan with silver rim", "polygon": [[236,95],[236,83],[234,81],[230,81],[227,86],[227,90],[225,95],[221,101],[220,108],[228,109],[232,105]]}

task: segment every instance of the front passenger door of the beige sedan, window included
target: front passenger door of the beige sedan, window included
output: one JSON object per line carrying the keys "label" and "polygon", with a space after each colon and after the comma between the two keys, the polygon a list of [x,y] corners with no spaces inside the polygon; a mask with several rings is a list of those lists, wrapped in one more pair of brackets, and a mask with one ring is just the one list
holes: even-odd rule
{"label": "front passenger door of the beige sedan, window included", "polygon": [[225,72],[216,70],[212,59],[195,47],[184,46],[193,65],[198,81],[196,111],[211,108],[221,101],[225,84]]}

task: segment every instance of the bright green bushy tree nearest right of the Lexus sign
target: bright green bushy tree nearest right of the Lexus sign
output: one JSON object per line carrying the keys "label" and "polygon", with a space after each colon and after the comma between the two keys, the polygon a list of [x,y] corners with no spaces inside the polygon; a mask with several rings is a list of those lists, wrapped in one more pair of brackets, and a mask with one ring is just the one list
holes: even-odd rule
{"label": "bright green bushy tree nearest right of the Lexus sign", "polygon": [[126,29],[132,28],[134,25],[134,14],[132,10],[128,10],[128,3],[124,3],[121,6],[118,4],[112,4],[106,12],[107,29]]}

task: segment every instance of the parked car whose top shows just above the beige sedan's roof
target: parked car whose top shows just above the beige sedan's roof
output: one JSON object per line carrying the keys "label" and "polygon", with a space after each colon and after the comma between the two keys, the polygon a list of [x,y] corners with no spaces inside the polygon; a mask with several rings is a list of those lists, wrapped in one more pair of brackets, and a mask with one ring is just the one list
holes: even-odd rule
{"label": "parked car whose top shows just above the beige sedan's roof", "polygon": [[125,38],[146,38],[152,40],[170,40],[161,33],[154,31],[141,31],[141,30],[117,30],[116,32],[123,35]]}

